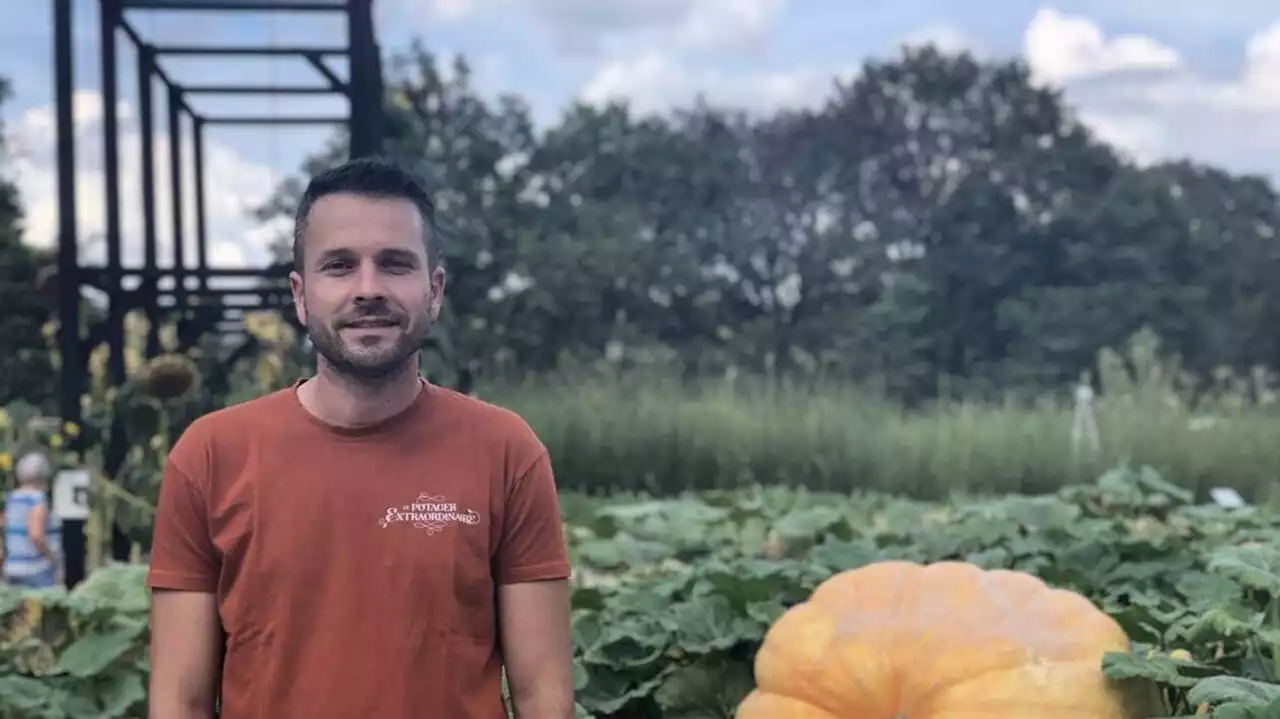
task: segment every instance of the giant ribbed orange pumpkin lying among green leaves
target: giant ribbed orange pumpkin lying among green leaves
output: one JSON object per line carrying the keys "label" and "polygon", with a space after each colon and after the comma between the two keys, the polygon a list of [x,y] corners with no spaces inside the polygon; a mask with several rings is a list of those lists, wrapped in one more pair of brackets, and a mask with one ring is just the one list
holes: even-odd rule
{"label": "giant ribbed orange pumpkin lying among green leaves", "polygon": [[1129,651],[1087,599],[1030,574],[881,562],[827,580],[769,628],[737,719],[1135,719],[1102,655]]}

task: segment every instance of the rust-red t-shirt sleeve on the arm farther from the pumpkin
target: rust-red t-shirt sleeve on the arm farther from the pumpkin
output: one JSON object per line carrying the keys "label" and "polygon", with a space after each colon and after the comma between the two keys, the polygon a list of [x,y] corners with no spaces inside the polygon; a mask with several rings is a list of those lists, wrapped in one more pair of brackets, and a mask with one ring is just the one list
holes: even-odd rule
{"label": "rust-red t-shirt sleeve on the arm farther from the pumpkin", "polygon": [[214,592],[221,559],[209,525],[205,487],[170,459],[160,478],[147,586]]}

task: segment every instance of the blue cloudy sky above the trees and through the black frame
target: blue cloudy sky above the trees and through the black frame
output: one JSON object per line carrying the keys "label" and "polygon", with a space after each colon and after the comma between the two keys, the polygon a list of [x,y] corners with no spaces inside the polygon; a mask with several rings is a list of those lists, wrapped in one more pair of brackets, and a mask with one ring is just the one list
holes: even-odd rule
{"label": "blue cloudy sky above the trees and through the black frame", "polygon": [[[820,102],[837,77],[902,43],[937,42],[982,56],[1023,56],[1038,82],[1134,161],[1190,157],[1280,180],[1280,5],[1275,0],[374,0],[384,54],[415,38],[462,54],[486,95],[517,93],[539,124],[571,101],[630,100],[662,111],[704,95],[768,111]],[[79,229],[84,256],[101,257],[102,139],[97,0],[76,0],[76,115]],[[51,1],[9,3],[0,23],[0,75],[13,97],[0,111],[19,187],[26,241],[56,233]],[[340,45],[339,17],[297,13],[131,12],[157,43]],[[134,52],[119,41],[124,262],[141,262]],[[315,83],[300,60],[168,58],[186,83]],[[338,74],[346,74],[340,63]],[[244,73],[241,78],[232,74]],[[196,99],[209,115],[342,115],[346,100]],[[164,105],[157,99],[156,173],[168,178]],[[324,127],[221,127],[209,132],[206,186],[211,262],[266,262],[282,226],[247,212],[329,137]],[[189,136],[188,138],[189,139]],[[188,157],[189,145],[183,145]],[[184,206],[192,207],[191,178]],[[172,252],[168,186],[157,187],[161,257]],[[187,215],[187,226],[192,226]],[[188,256],[193,239],[188,238]],[[161,260],[161,265],[166,265]]]}

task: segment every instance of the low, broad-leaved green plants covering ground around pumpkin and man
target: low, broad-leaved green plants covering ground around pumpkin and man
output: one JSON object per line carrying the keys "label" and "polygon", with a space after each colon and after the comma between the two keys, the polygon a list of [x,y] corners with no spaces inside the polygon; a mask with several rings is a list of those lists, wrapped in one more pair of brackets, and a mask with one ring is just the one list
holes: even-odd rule
{"label": "low, broad-leaved green plants covering ground around pumpkin and man", "polygon": [[[1156,682],[1166,716],[1280,710],[1280,514],[1197,504],[1149,468],[946,503],[785,487],[566,495],[564,516],[580,716],[731,718],[768,626],[835,572],[881,559],[959,559],[1082,592],[1134,641],[1106,673]],[[0,719],[146,715],[142,573],[0,594]]]}

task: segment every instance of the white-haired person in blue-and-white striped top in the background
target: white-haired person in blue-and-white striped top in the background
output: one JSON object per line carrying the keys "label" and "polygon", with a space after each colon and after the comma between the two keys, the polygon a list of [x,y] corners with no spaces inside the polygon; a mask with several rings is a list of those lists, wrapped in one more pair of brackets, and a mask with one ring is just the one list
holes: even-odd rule
{"label": "white-haired person in blue-and-white striped top in the background", "polygon": [[4,576],[10,585],[51,587],[61,573],[61,522],[49,512],[52,467],[38,452],[13,468],[18,486],[4,508]]}

